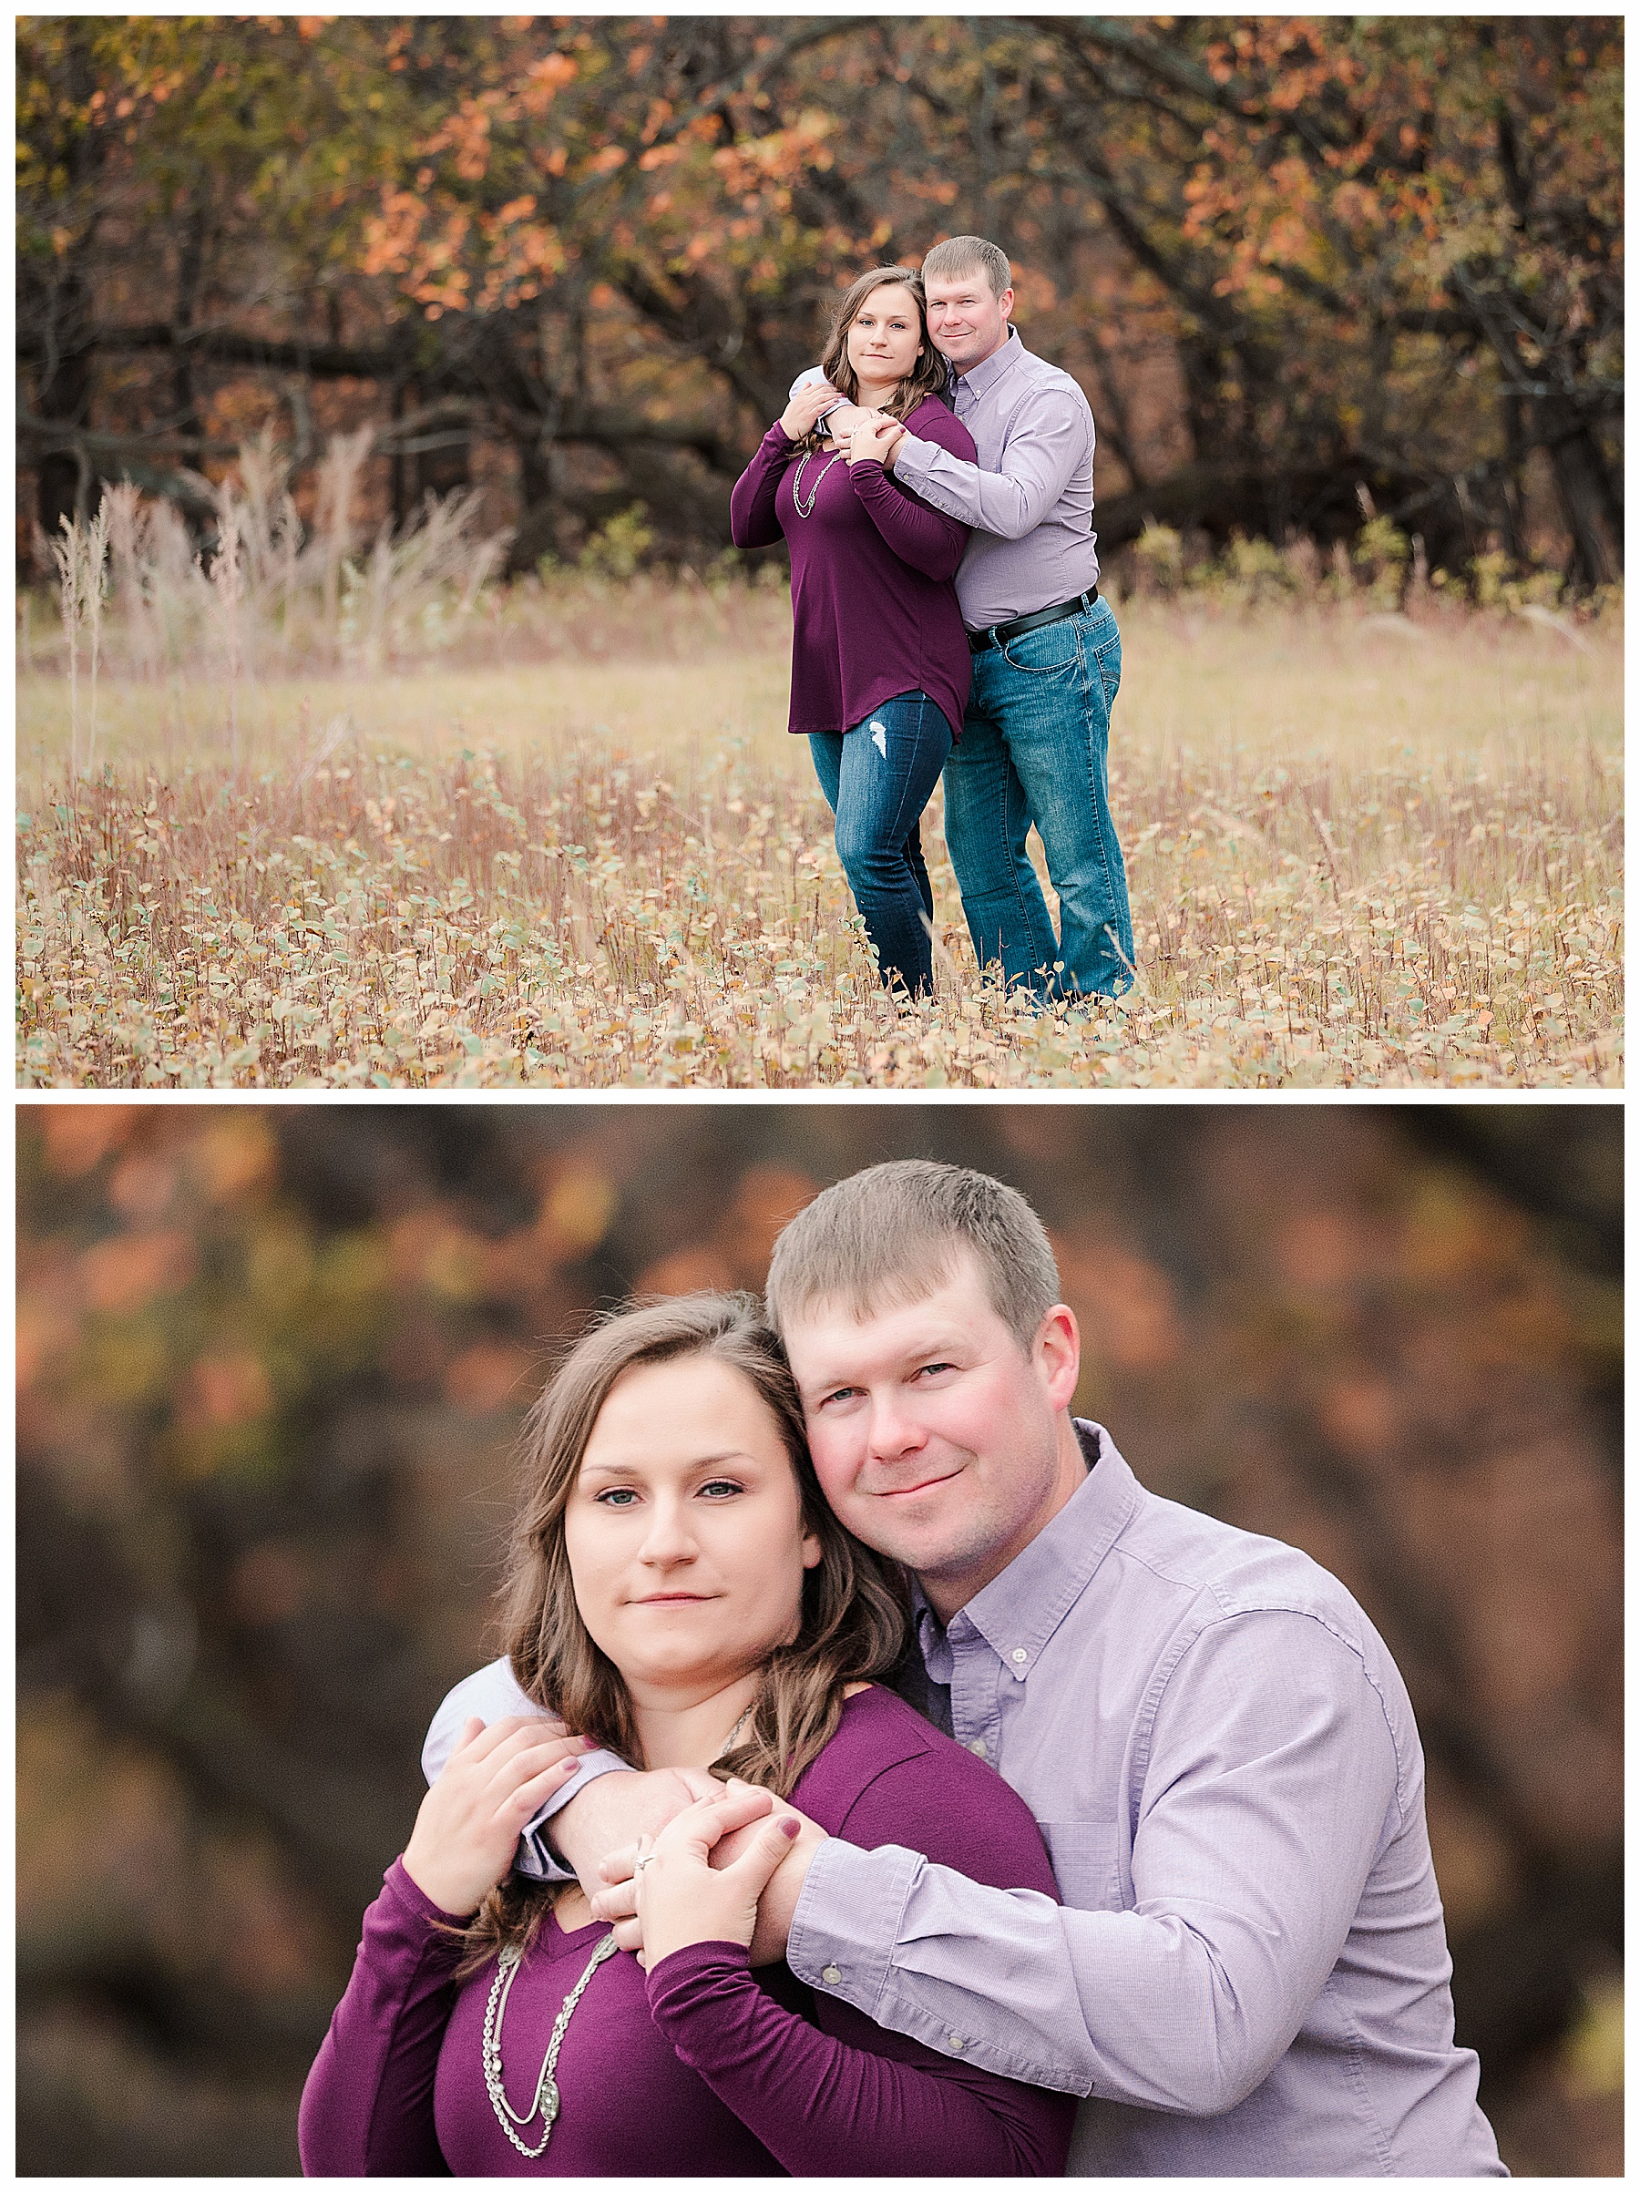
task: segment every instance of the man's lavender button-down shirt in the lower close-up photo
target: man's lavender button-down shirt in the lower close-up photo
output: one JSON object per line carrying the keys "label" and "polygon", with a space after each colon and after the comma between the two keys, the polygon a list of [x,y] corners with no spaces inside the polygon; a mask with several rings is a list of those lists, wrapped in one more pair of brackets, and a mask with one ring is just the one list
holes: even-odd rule
{"label": "man's lavender button-down shirt in the lower close-up photo", "polygon": [[829,1840],[791,1969],[1085,2094],[1072,2175],[1506,2175],[1451,2037],[1383,1640],[1307,1555],[1158,1500],[1079,1434],[1074,1498],[943,1634],[923,1614],[952,1732],[1030,1805],[1063,1908]]}

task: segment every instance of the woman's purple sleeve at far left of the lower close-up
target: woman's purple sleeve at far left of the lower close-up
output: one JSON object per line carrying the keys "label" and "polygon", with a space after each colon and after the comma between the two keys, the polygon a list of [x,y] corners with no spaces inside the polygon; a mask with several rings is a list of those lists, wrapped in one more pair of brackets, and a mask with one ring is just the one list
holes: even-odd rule
{"label": "woman's purple sleeve at far left of the lower close-up", "polygon": [[296,2138],[305,2178],[447,2178],[432,2121],[460,1939],[395,1857],[364,1914],[353,1978],[307,2075]]}

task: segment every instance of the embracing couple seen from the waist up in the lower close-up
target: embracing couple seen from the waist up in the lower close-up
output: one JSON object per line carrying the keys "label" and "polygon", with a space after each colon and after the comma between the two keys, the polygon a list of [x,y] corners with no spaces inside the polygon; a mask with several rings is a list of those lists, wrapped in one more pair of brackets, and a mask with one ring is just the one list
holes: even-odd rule
{"label": "embracing couple seen from the waist up in the lower close-up", "polygon": [[309,2175],[1502,2175],[1381,1638],[1077,1373],[932,1162],[570,1351]]}

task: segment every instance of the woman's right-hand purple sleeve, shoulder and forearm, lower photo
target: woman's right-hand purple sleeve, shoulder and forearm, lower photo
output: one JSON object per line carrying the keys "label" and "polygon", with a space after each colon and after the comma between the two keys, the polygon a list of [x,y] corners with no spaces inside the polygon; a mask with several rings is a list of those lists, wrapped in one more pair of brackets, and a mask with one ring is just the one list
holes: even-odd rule
{"label": "woman's right-hand purple sleeve, shoulder and forearm, lower photo", "polygon": [[[1052,1895],[1026,1807],[952,1752],[921,1750],[877,1774],[849,1807],[846,1840],[925,1842],[987,1884]],[[936,2055],[824,1993],[816,2031],[763,1993],[734,1943],[662,1958],[649,2009],[684,2064],[798,2178],[1057,2178],[1066,2167],[1070,2097]]]}

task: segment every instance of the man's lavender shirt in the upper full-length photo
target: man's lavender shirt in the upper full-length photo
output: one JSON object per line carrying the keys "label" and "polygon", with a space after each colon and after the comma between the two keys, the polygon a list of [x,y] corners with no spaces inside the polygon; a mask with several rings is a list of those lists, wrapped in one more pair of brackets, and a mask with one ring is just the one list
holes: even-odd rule
{"label": "man's lavender shirt in the upper full-length photo", "polygon": [[1094,414],[1077,382],[1011,327],[1000,351],[956,375],[952,401],[978,465],[908,434],[895,478],[973,526],[956,572],[969,632],[1096,586]]}

